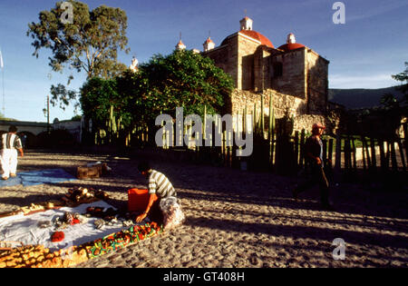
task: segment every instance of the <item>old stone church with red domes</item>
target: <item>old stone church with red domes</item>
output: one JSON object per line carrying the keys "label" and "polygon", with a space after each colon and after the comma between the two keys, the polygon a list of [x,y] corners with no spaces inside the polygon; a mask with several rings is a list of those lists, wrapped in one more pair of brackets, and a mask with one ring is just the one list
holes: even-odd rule
{"label": "old stone church with red domes", "polygon": [[[269,100],[277,118],[294,117],[295,130],[310,131],[315,122],[328,124],[328,64],[324,57],[295,35],[287,35],[287,43],[276,47],[265,36],[253,30],[247,16],[239,21],[240,30],[228,35],[219,46],[208,38],[202,55],[232,76],[236,89],[227,104],[227,113],[248,113],[257,105],[260,113],[264,97],[264,113],[269,114]],[[184,49],[181,40],[177,49]],[[197,50],[196,50],[197,51]]]}

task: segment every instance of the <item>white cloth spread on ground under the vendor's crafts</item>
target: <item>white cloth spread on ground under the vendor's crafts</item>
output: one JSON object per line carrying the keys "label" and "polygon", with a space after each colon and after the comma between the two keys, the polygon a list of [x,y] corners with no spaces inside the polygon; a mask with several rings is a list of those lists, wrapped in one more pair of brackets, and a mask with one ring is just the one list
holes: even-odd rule
{"label": "white cloth spread on ground under the vendor's crafts", "polygon": [[[119,221],[114,225],[104,225],[101,230],[95,228],[94,222],[98,218],[87,218],[86,222],[69,225],[60,230],[64,233],[63,242],[51,242],[53,232],[57,231],[54,225],[47,228],[40,228],[39,222],[54,221],[56,217],[63,217],[64,212],[78,212],[83,214],[88,207],[113,208],[110,204],[99,201],[84,203],[75,208],[63,207],[58,210],[48,210],[37,212],[31,215],[15,215],[0,219],[0,241],[23,242],[27,244],[43,244],[44,247],[52,251],[67,248],[73,245],[81,245],[85,242],[92,242],[113,232],[120,232],[127,229]],[[113,208],[114,209],[114,208]]]}

